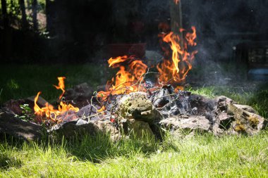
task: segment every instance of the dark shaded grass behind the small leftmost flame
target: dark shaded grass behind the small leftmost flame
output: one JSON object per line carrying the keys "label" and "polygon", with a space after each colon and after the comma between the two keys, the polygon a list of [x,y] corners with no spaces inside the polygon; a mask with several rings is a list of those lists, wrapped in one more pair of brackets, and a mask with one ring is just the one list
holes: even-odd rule
{"label": "dark shaded grass behind the small leftmost flame", "polygon": [[105,65],[1,65],[0,104],[9,99],[28,98],[42,91],[41,96],[54,103],[61,94],[53,87],[58,85],[57,77],[66,77],[66,88],[87,82],[96,89],[106,82],[108,71]]}

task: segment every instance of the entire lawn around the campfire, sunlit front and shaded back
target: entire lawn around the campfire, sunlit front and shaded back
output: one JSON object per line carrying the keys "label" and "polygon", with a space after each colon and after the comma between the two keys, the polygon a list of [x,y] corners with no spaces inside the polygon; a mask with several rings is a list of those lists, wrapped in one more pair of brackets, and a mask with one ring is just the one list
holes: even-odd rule
{"label": "entire lawn around the campfire, sunlit front and shaded back", "polygon": [[[0,67],[0,103],[42,91],[54,103],[61,94],[52,86],[66,77],[66,87],[88,82],[97,89],[111,72],[102,65],[8,65]],[[102,70],[101,70],[102,69]],[[210,98],[229,96],[268,116],[268,88],[236,91],[233,87],[188,88]],[[109,136],[43,140],[1,137],[0,177],[268,177],[268,131],[255,136],[166,135],[164,141]]]}

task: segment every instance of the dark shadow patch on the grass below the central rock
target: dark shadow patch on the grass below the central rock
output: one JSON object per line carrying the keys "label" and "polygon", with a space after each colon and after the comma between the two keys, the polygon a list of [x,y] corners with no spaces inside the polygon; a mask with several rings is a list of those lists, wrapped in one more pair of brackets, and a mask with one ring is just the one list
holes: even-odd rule
{"label": "dark shadow patch on the grass below the central rock", "polygon": [[111,141],[109,134],[99,133],[95,136],[85,135],[83,139],[76,136],[73,139],[61,141],[68,153],[80,160],[90,160],[99,163],[106,158],[123,156],[130,158],[137,154],[151,155],[159,149],[176,149],[176,146],[164,141],[152,141],[147,136],[142,139],[128,136],[119,141]]}

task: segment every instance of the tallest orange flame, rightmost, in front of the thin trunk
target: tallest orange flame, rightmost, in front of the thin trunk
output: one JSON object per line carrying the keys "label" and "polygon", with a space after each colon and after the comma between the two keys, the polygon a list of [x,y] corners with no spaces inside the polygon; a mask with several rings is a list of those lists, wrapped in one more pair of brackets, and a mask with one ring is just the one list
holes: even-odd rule
{"label": "tallest orange flame, rightmost, in front of the thin trunk", "polygon": [[[181,46],[181,39],[178,34],[169,32],[169,34],[161,34],[159,37],[162,37],[163,42],[166,42],[170,45],[172,50],[172,61],[169,59],[169,49],[164,49],[165,58],[162,64],[157,65],[157,70],[160,73],[159,81],[160,82],[181,82],[185,80],[185,77],[189,70],[192,68],[193,58],[197,51],[189,53],[187,51],[188,46],[195,46],[196,42],[196,30],[195,27],[192,27],[193,32],[187,32],[185,35],[184,45]],[[180,29],[181,32],[185,31]]]}

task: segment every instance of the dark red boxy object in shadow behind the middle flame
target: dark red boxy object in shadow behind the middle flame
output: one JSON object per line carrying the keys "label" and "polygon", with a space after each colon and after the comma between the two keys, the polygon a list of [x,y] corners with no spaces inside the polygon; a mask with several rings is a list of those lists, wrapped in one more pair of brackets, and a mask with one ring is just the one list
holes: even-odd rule
{"label": "dark red boxy object in shadow behind the middle flame", "polygon": [[113,58],[118,56],[135,55],[139,58],[145,56],[145,43],[138,44],[109,44],[109,55]]}

